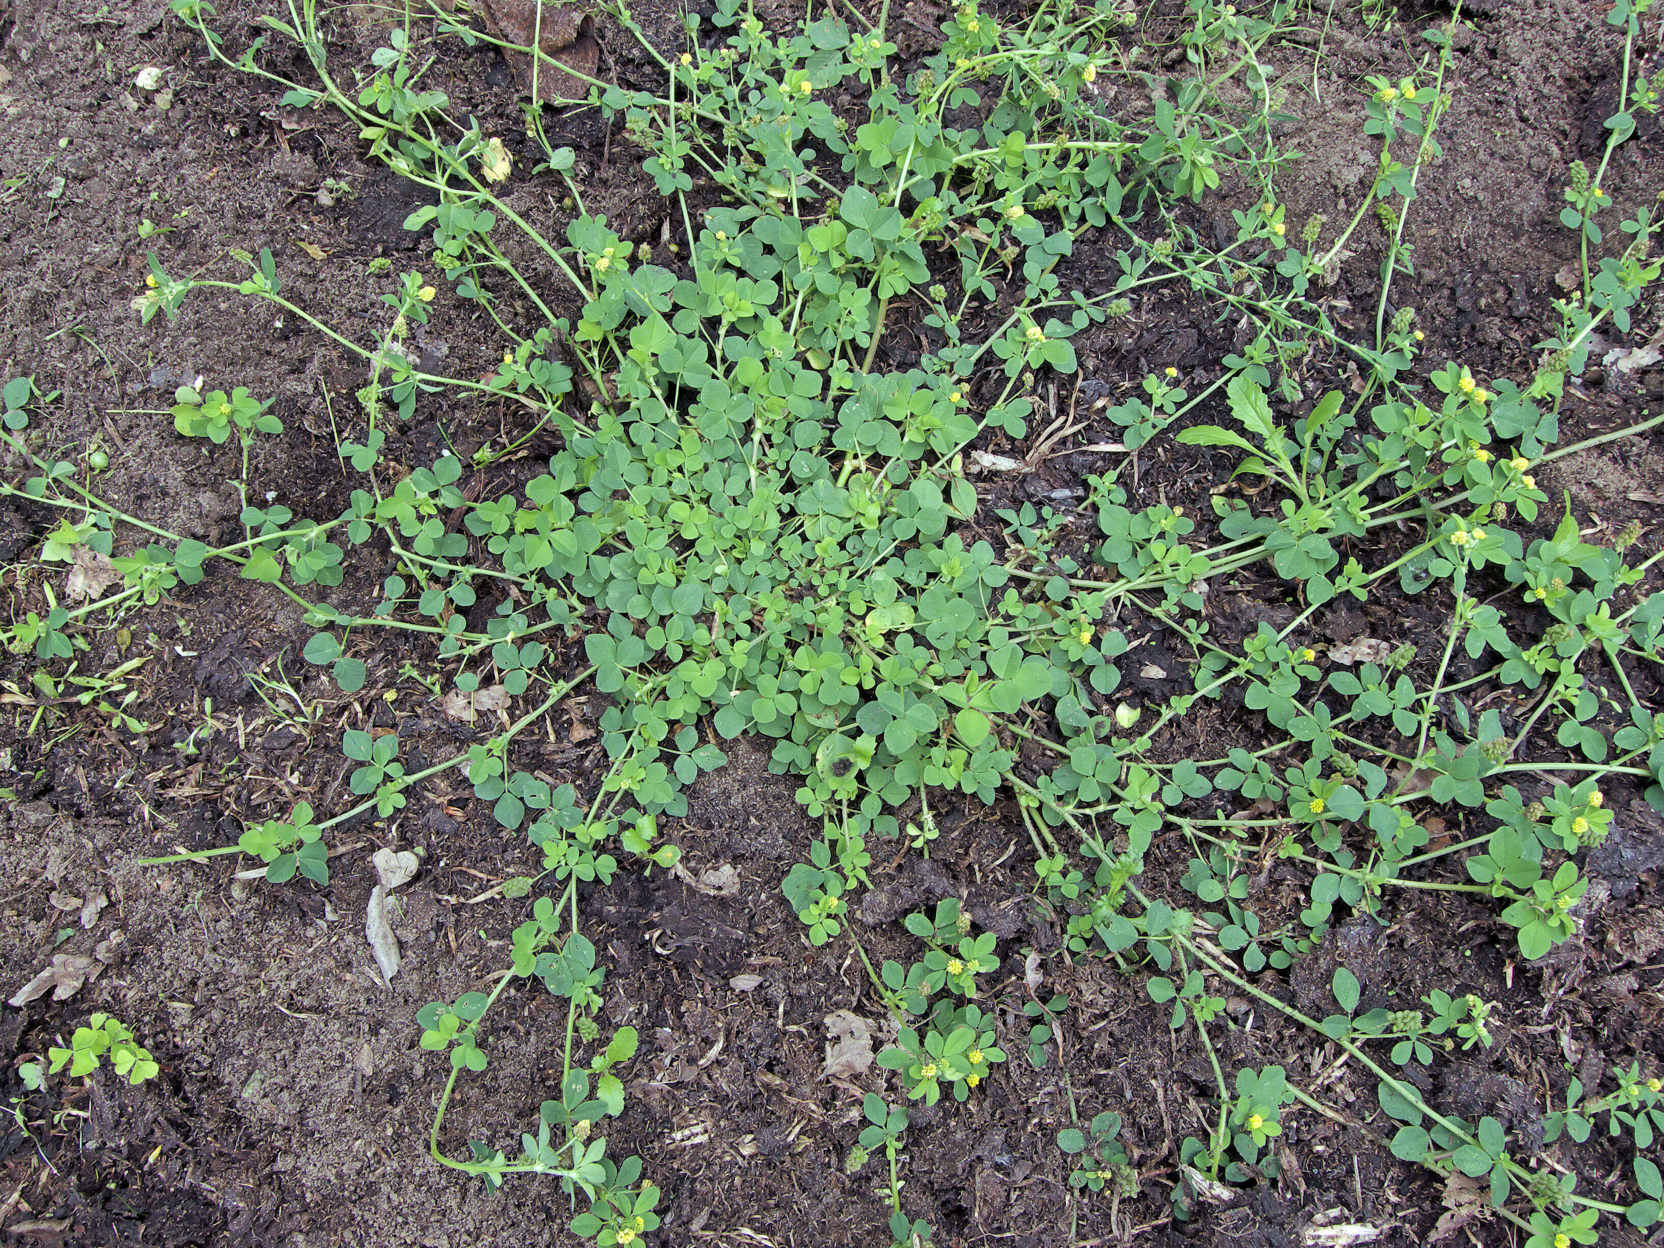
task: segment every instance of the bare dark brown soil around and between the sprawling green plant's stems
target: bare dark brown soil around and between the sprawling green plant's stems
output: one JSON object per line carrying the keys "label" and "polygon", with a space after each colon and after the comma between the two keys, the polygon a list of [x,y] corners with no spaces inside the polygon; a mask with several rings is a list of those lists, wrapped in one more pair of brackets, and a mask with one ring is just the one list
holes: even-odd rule
{"label": "bare dark brown soil around and between the sprawling green plant's stems", "polygon": [[[223,30],[250,28],[246,10],[225,8]],[[226,266],[226,248],[266,246],[298,303],[368,339],[379,319],[376,298],[391,281],[368,275],[368,261],[393,253],[394,270],[431,266],[419,251],[404,251],[416,240],[399,228],[411,203],[396,185],[376,180],[344,126],[280,108],[256,82],[206,62],[165,12],[148,5],[121,17],[95,15],[90,5],[23,3],[0,25],[8,133],[0,161],[7,178],[28,178],[0,223],[8,286],[0,358],[10,361],[8,373],[33,373],[43,389],[63,391],[43,423],[53,451],[100,441],[115,463],[98,488],[131,514],[206,539],[233,532],[238,499],[225,483],[238,473],[235,456],[185,444],[161,414],[173,388],[198,373],[210,384],[243,384],[278,399],[286,431],[256,444],[253,486],[300,514],[339,514],[353,483],[334,454],[331,419],[351,408],[364,381],[361,364],[303,324],[273,323],[256,301],[203,300],[178,321],[158,318],[140,328],[128,298],[140,290],[146,250],[173,271],[208,271]],[[764,17],[784,27],[799,12],[782,0]],[[676,50],[677,13],[654,7],[639,18],[661,47]],[[1293,83],[1286,111],[1298,120],[1288,141],[1305,153],[1283,178],[1291,220],[1316,211],[1345,216],[1356,206],[1348,200],[1368,188],[1373,156],[1363,146],[1356,85],[1364,73],[1409,72],[1413,32],[1444,15],[1406,10],[1398,18],[1391,32],[1376,32],[1356,10],[1336,8],[1316,73],[1311,47],[1275,50]],[[907,5],[904,57],[932,47],[937,20],[935,7]],[[1151,28],[1161,20],[1153,18]],[[607,72],[626,82],[644,72],[606,22],[599,35],[617,57],[611,65],[602,58]],[[1569,160],[1589,155],[1587,118],[1604,108],[1601,92],[1611,92],[1614,47],[1599,13],[1574,0],[1521,0],[1458,32],[1458,103],[1441,130],[1446,160],[1429,171],[1414,205],[1419,278],[1398,288],[1421,313],[1426,361],[1459,359],[1476,374],[1518,381],[1531,376],[1531,344],[1551,331],[1544,318],[1556,273],[1574,256],[1572,236],[1554,220],[1561,180]],[[160,110],[155,97],[131,87],[130,67],[140,65],[166,68],[171,108]],[[522,133],[494,53],[444,47],[434,75],[454,100],[489,118],[488,133],[493,126],[506,136]],[[622,136],[607,135],[594,113],[552,118],[552,126],[557,143],[579,151],[591,211],[607,213],[626,241],[657,243],[662,203]],[[1656,190],[1661,156],[1656,130],[1619,150],[1609,191],[1621,205]],[[326,178],[358,195],[319,206]],[[1191,223],[1203,235],[1216,228],[1230,206],[1241,206],[1243,193],[1223,186],[1191,210]],[[554,226],[564,225],[561,206],[536,185],[511,196],[537,220],[554,215]],[[156,233],[141,238],[141,220]],[[1088,235],[1077,245],[1065,288],[1090,291],[1107,280],[1108,255],[1095,255],[1092,241]],[[536,256],[514,260],[534,283],[552,288]],[[1345,263],[1330,293],[1343,329],[1353,318],[1350,328],[1361,331],[1378,265],[1378,238]],[[498,346],[484,318],[449,293],[436,313],[424,351],[443,358],[454,376],[489,371]],[[1120,388],[1173,364],[1205,383],[1236,346],[1228,323],[1213,323],[1211,313],[1176,293],[1148,300],[1135,310],[1130,331],[1125,324],[1077,339],[1085,378]],[[922,329],[917,316],[900,316],[884,351],[905,364],[924,346]],[[1055,401],[1068,401],[1070,383],[1058,384],[1063,394]],[[1591,371],[1567,404],[1562,443],[1631,423],[1647,404],[1656,411],[1661,393],[1657,369],[1622,384]],[[499,431],[498,423],[513,419],[489,409],[474,413],[473,423],[454,423],[451,413],[423,403],[386,453],[419,466],[449,439],[466,461]],[[1115,434],[1088,429],[1087,441]],[[990,449],[1027,448],[990,443]],[[1138,454],[1143,504],[1166,501],[1208,514],[1208,493],[1228,481],[1221,458],[1170,438]],[[1078,498],[1087,474],[1122,459],[1073,453],[1015,484],[983,478],[983,514]],[[483,484],[514,489],[534,461],[536,454],[499,464]],[[1611,532],[1639,519],[1641,551],[1657,547],[1664,461],[1656,436],[1564,459],[1546,478],[1551,498],[1571,491],[1586,526]],[[10,509],[0,521],[10,609],[22,616],[42,602],[42,569],[27,556],[50,521],[28,509]],[[1391,557],[1394,537],[1383,541],[1378,556]],[[331,601],[368,611],[378,577],[374,569],[349,572]],[[1218,636],[1236,639],[1281,612],[1291,619],[1270,589],[1251,576],[1220,586],[1211,602]],[[1436,652],[1439,612],[1448,616],[1448,599],[1378,596],[1368,607],[1335,604],[1320,614],[1318,632],[1333,642],[1373,636]],[[1181,659],[1163,649],[1160,624],[1132,612],[1120,627],[1145,637],[1128,656],[1128,687],[1156,697],[1170,692],[1161,676],[1150,674]],[[238,859],[135,865],[145,855],[235,842],[246,822],[286,810],[296,795],[328,807],[343,784],[334,749],[343,726],[396,729],[411,770],[466,749],[474,730],[439,714],[419,684],[399,681],[406,664],[431,671],[431,649],[409,634],[378,636],[374,652],[361,656],[373,667],[376,696],[346,697],[300,659],[311,632],[300,609],[228,569],[130,612],[123,629],[125,639],[115,629],[93,634],[82,662],[108,671],[146,656],[135,676],[141,697],[133,714],[151,722],[151,732],[116,734],[103,719],[67,707],[30,730],[33,712],[15,704],[5,707],[0,727],[3,782],[15,794],[0,837],[7,990],[53,950],[87,953],[103,942],[108,958],[70,1002],[42,998],[0,1015],[7,1058],[0,1080],[8,1098],[22,1098],[22,1118],[0,1127],[0,1231],[27,1223],[37,1228],[27,1231],[30,1241],[70,1245],[566,1243],[571,1211],[552,1181],[522,1178],[491,1193],[426,1156],[444,1062],[416,1047],[414,1015],[429,1000],[478,990],[504,965],[504,942],[529,902],[493,895],[493,885],[536,870],[524,835],[496,827],[489,809],[453,779],[449,787],[418,790],[394,825],[364,819],[338,827],[328,889],[238,880],[238,865],[246,865]],[[248,674],[273,676],[280,661],[316,709],[311,722],[281,721],[256,696]],[[557,651],[551,666],[576,671],[581,662],[581,654]],[[27,691],[35,666],[32,657],[8,659],[5,676]],[[1657,687],[1637,679],[1639,697],[1652,701]],[[379,696],[388,689],[396,697]],[[186,752],[180,747],[208,717],[210,697],[215,730],[198,734],[198,752]],[[601,765],[602,704],[579,691],[536,740],[518,745],[531,755],[521,765],[581,784]],[[1236,712],[1228,702],[1200,707],[1158,742],[1158,757],[1185,757],[1200,742],[1210,754],[1233,744],[1256,749],[1251,719]],[[880,1163],[855,1175],[844,1168],[859,1132],[860,1088],[822,1077],[825,1017],[840,1008],[882,1010],[847,940],[810,950],[779,892],[780,877],[815,835],[794,787],[769,774],[765,754],[735,744],[727,767],[689,790],[687,817],[667,820],[667,839],[682,847],[694,874],[737,869],[735,894],[714,897],[662,872],[624,872],[612,887],[581,899],[586,930],[611,960],[602,1022],[634,1025],[644,1042],[612,1153],[641,1153],[646,1175],[664,1188],[662,1243],[872,1245],[887,1233]],[[1439,1067],[1431,1095],[1453,1112],[1504,1117],[1516,1132],[1529,1133],[1546,1105],[1549,1075],[1561,1087],[1566,1063],[1586,1083],[1636,1060],[1656,1070],[1664,1062],[1657,899],[1664,822],[1637,790],[1614,792],[1611,800],[1622,835],[1591,862],[1597,882],[1587,929],[1546,965],[1518,965],[1511,934],[1488,907],[1411,894],[1389,910],[1389,927],[1368,919],[1338,927],[1281,992],[1325,1013],[1330,975],[1343,958],[1364,982],[1366,1007],[1388,997],[1413,1003],[1433,988],[1496,1002],[1496,1047]],[[1459,817],[1483,820],[1471,812]],[[877,847],[875,889],[859,904],[854,925],[875,960],[905,958],[912,942],[897,920],[958,895],[977,924],[1000,937],[1003,962],[990,977],[990,1002],[1020,1007],[1022,950],[1055,948],[1060,940],[1057,917],[1030,897],[1033,859],[1022,824],[1007,802],[983,807],[973,799],[943,799],[938,822],[942,835],[929,860]],[[369,852],[393,840],[421,847],[426,864],[394,922],[404,970],[388,988],[364,945],[361,915],[374,882]],[[1158,839],[1146,862],[1148,887],[1180,904],[1176,880],[1186,859],[1181,842]],[[1268,905],[1303,904],[1300,885],[1270,857],[1253,887]],[[95,909],[83,930],[77,914],[98,894],[108,907]],[[1441,1193],[1381,1145],[1373,1080],[1331,1065],[1333,1052],[1318,1037],[1240,998],[1228,1002],[1233,1025],[1220,1033],[1221,1060],[1286,1063],[1310,1077],[1335,1117],[1290,1113],[1278,1148],[1281,1178],[1245,1190],[1235,1206],[1205,1205],[1190,1223],[1168,1221],[1176,1143],[1208,1127],[1206,1055],[1193,1030],[1170,1032],[1165,1012],[1150,1008],[1142,987],[1112,963],[1048,967],[1043,990],[1070,998],[1062,1053],[1040,1070],[1023,1060],[1007,1063],[965,1107],[914,1113],[904,1205],[937,1226],[938,1245],[1062,1243],[1070,1201],[1083,1241],[1125,1235],[1300,1243],[1311,1218],[1333,1208],[1350,1221],[1383,1226],[1378,1243],[1424,1241]],[[100,1077],[62,1098],[57,1088],[25,1092],[18,1062],[45,1052],[92,1010],[133,1027],[161,1063],[161,1077],[138,1088]],[[451,1108],[453,1153],[468,1138],[513,1146],[537,1103],[554,1095],[559,1027],[556,1002],[541,992],[504,997],[489,1032],[493,1065],[463,1085]],[[998,1027],[1020,1057],[1017,1035],[1027,1020],[1002,1008]],[[879,1073],[862,1077],[862,1087],[877,1087]],[[1113,1211],[1108,1195],[1083,1198],[1068,1188],[1070,1161],[1055,1140],[1070,1122],[1070,1092],[1083,1117],[1115,1110],[1125,1122],[1122,1138],[1143,1193]],[[1611,1168],[1599,1138],[1584,1148],[1582,1173]],[[1499,1223],[1473,1230],[1481,1243],[1506,1241]],[[1639,1236],[1617,1228],[1606,1241],[1639,1243]]]}

